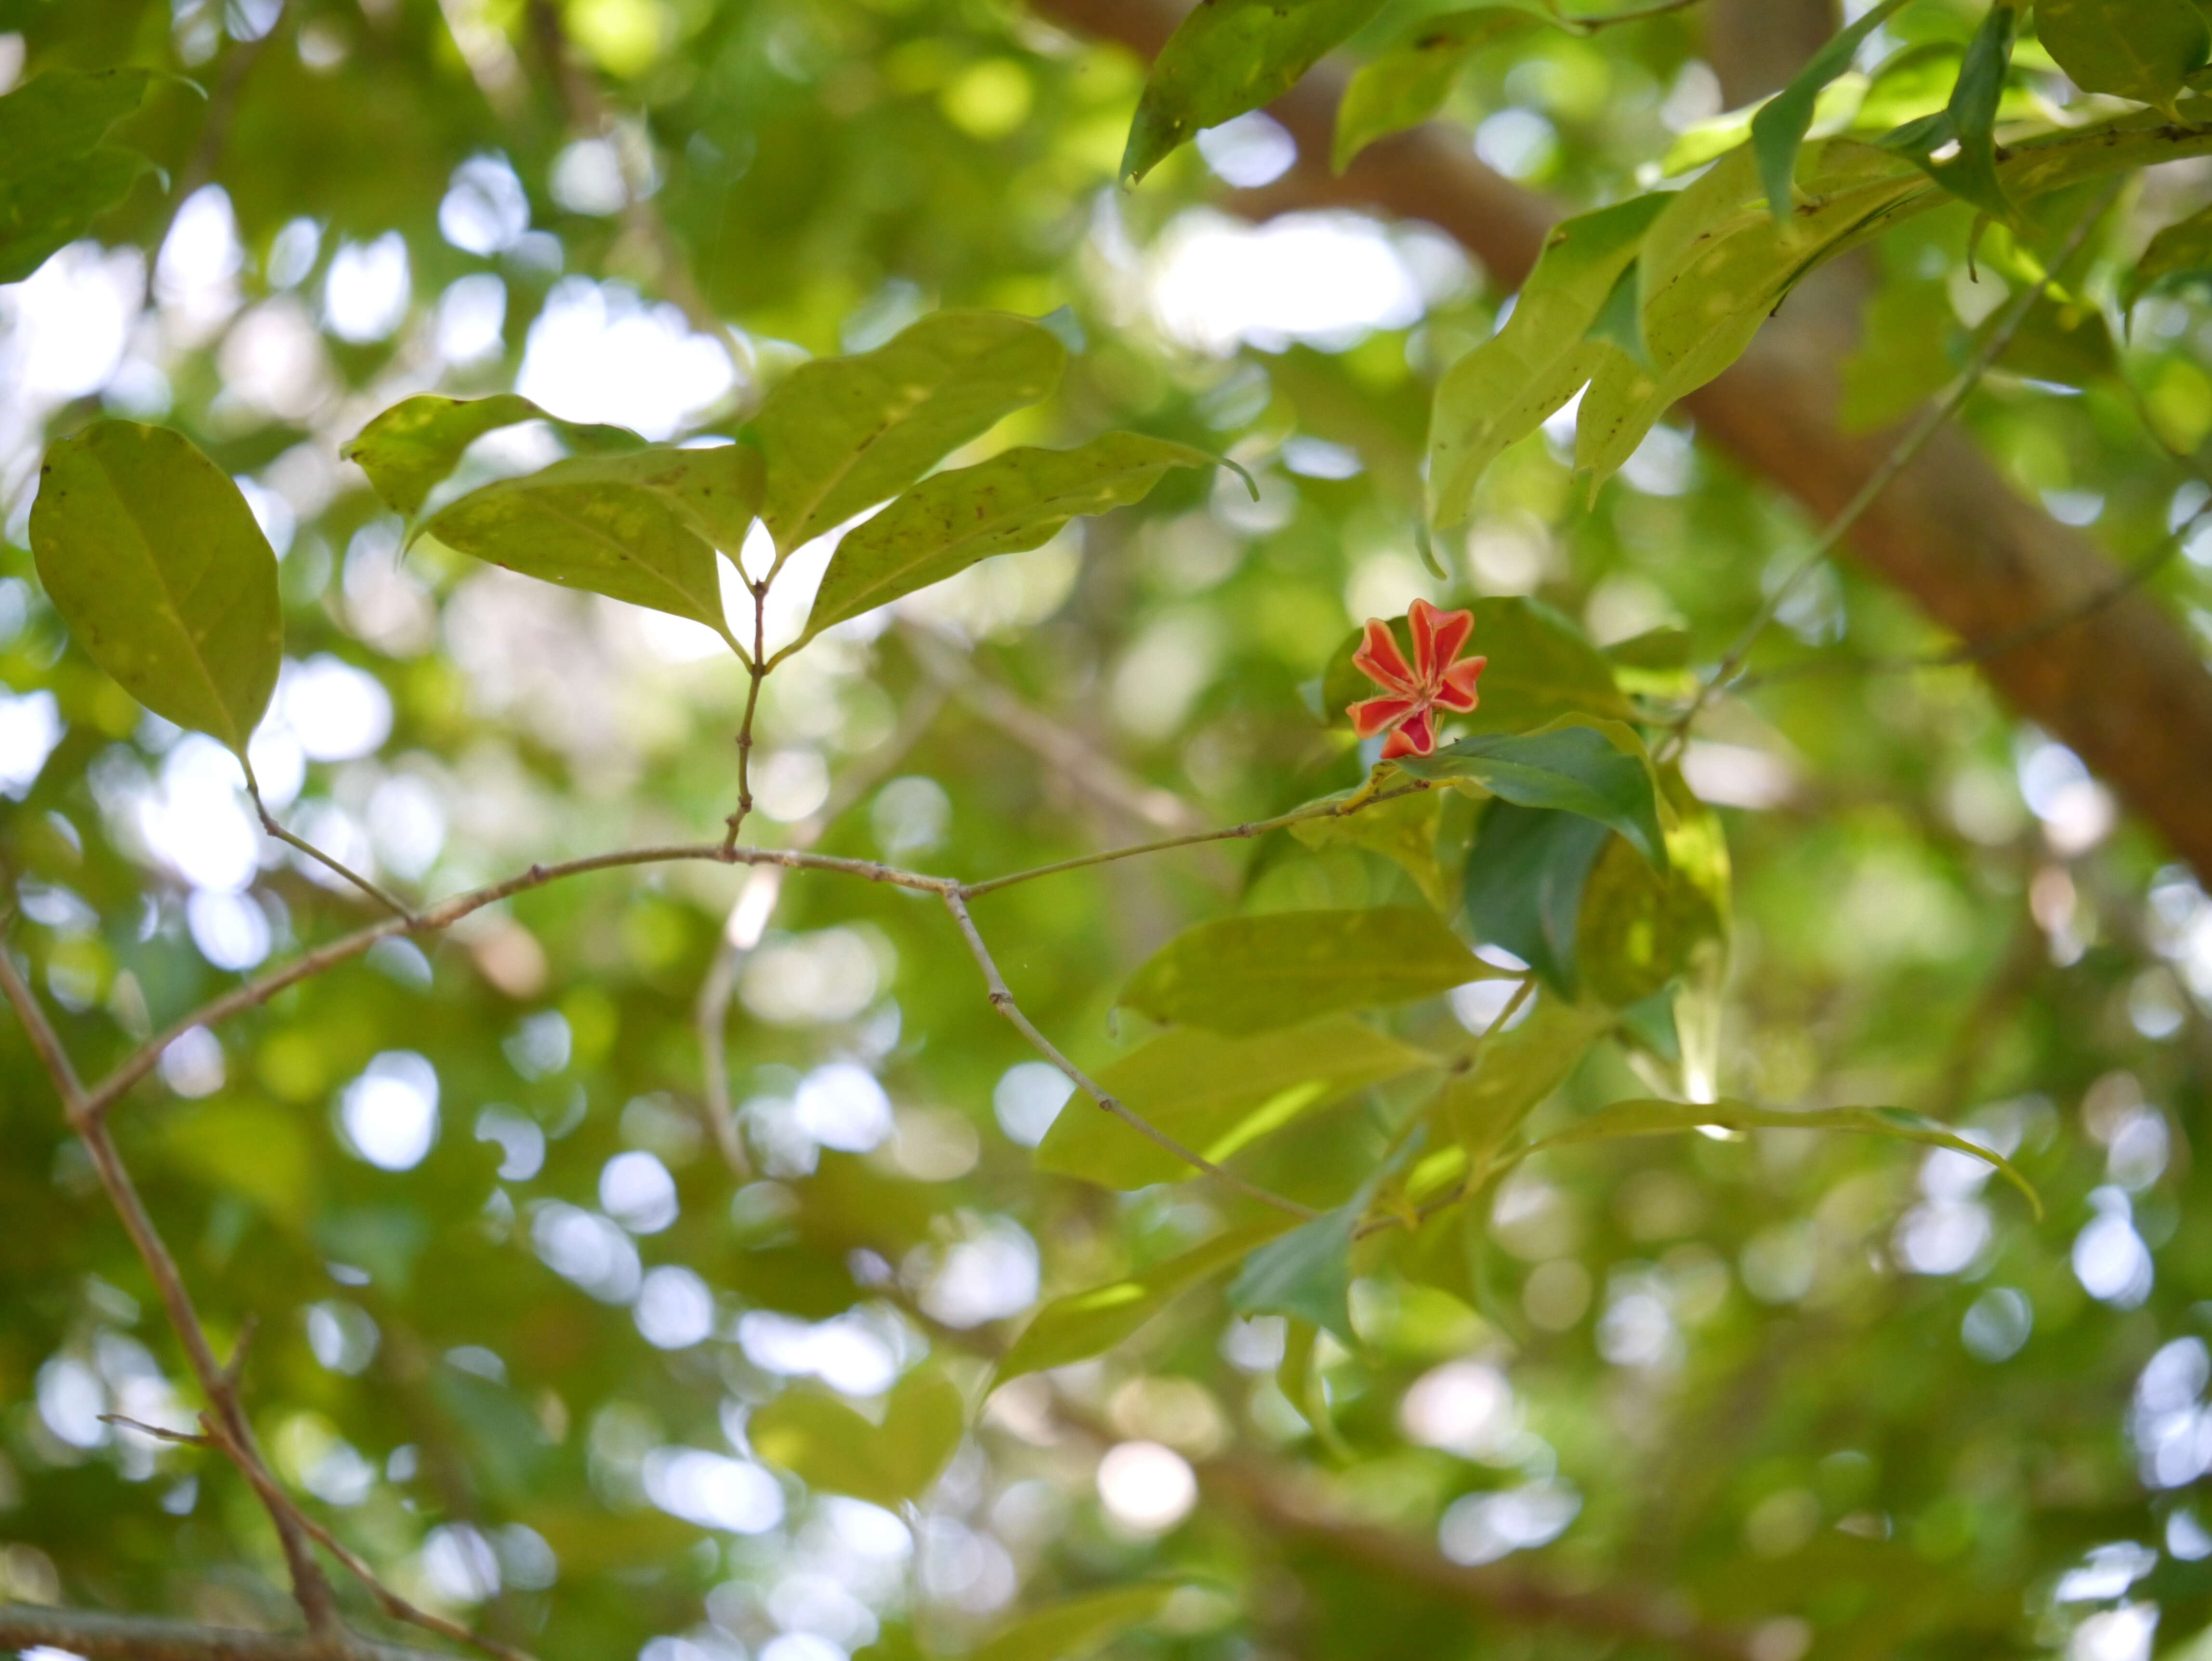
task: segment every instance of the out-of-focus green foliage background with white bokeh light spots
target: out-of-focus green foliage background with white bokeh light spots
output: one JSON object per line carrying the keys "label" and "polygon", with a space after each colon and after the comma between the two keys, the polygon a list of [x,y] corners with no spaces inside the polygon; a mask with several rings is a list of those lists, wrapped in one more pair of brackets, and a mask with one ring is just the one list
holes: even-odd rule
{"label": "out-of-focus green foliage background with white bokeh light spots", "polygon": [[[1955,62],[1978,11],[1918,0],[1889,44]],[[1610,201],[1721,113],[1728,27],[1778,31],[1714,7],[1515,38],[1447,113],[1491,168]],[[155,168],[0,288],[0,860],[11,944],[95,1073],[367,916],[42,599],[38,460],[100,414],[179,427],[246,489],[288,606],[270,805],[420,896],[719,836],[743,677],[692,626],[436,542],[400,557],[338,447],[414,391],[728,431],[807,356],[980,305],[1073,347],[991,447],[1126,425],[1245,464],[1256,502],[1175,476],[770,681],[748,834],[960,878],[1354,785],[1314,688],[1418,595],[1533,595],[1599,646],[1679,628],[1710,664],[1818,529],[1683,422],[1595,500],[1546,431],[1431,575],[1427,403],[1502,285],[1422,223],[1232,217],[1292,159],[1263,115],[1117,188],[1141,60],[998,0],[0,0],[0,82],[126,62],[168,71],[117,130]],[[2022,64],[2022,97],[2064,106]],[[2203,164],[2148,175],[2112,246],[2205,197]],[[1962,206],[1860,276],[1867,425],[2008,292],[1969,265]],[[2124,341],[2137,396],[1997,374],[1964,420],[2022,493],[2139,557],[2208,500],[2168,449],[2212,433],[2208,327],[2199,292],[2161,290]],[[515,429],[476,462],[553,453]],[[2212,650],[2212,540],[2183,555],[2148,586]],[[1243,1219],[1203,1185],[1037,1172],[1066,1084],[922,896],[717,867],[524,894],[179,1042],[117,1137],[219,1347],[259,1320],[246,1396],[276,1471],[409,1597],[549,1661],[958,1652],[1124,1584],[1175,1592],[1093,1634],[1117,1657],[2190,1652],[2212,900],[1971,668],[1882,666],[1940,644],[1825,566],[1759,646],[1785,675],[1701,725],[1686,774],[1736,874],[1721,1077],[1962,1121],[2048,1214],[1960,1155],[1854,1137],[1546,1155],[1495,1194],[1473,1272],[1363,1272],[1358,1343],[1321,1340],[1321,1433],[1276,1385],[1281,1323],[1210,1283],[998,1389],[905,1515],[752,1458],[748,1418],[796,1380],[867,1402],[931,1354],[980,1389],[1042,1298]],[[748,882],[737,1181],[695,1002]],[[1391,900],[1420,900],[1391,860],[1279,834],[975,911],[1097,1068],[1139,1035],[1121,980],[1181,927]],[[1425,1020],[1480,1031],[1486,986]],[[285,1626],[246,1484],[102,1420],[175,1420],[192,1391],[13,1024],[0,1077],[0,1601]],[[1644,1093],[1601,1046],[1535,1128]],[[1354,1099],[1265,1170],[1336,1203],[1371,1135]],[[1006,1654],[1077,1648],[1026,1643]]]}

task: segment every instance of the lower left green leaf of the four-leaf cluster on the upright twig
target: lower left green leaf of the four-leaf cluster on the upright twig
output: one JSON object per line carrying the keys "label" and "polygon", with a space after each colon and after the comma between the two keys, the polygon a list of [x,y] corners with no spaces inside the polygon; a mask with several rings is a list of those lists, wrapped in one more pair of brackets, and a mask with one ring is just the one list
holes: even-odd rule
{"label": "lower left green leaf of the four-leaf cluster on the upright twig", "polygon": [[573,456],[469,491],[422,531],[524,577],[706,624],[737,650],[714,540],[743,540],[759,471],[743,445]]}

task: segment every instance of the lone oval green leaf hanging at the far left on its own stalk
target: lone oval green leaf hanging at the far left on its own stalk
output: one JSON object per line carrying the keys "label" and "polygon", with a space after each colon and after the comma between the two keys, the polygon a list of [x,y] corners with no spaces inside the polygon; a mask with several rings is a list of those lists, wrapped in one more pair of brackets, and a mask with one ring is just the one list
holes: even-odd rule
{"label": "lone oval green leaf hanging at the far left on its own stalk", "polygon": [[276,555],[184,433],[97,420],[46,451],[31,551],[46,597],[117,686],[243,761],[283,666]]}

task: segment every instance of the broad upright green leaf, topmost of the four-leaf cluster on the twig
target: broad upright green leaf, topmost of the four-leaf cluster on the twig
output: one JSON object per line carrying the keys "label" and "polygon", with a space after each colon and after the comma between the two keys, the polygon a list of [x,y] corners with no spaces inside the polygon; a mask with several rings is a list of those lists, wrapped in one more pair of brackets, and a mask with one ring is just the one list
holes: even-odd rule
{"label": "broad upright green leaf, topmost of the four-leaf cluster on the twig", "polygon": [[792,369],[752,418],[761,520],[787,555],[898,495],[960,445],[1044,398],[1068,349],[1004,312],[933,312],[856,358]]}

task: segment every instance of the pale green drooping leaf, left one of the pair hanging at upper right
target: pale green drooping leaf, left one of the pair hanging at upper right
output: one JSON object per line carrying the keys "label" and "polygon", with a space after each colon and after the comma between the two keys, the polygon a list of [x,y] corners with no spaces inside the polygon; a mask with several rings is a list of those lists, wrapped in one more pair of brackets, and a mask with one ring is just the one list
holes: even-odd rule
{"label": "pale green drooping leaf, left one of the pair hanging at upper right", "polygon": [[1489,464],[1597,372],[1610,347],[1586,338],[1590,325],[1668,201],[1630,197],[1557,226],[1506,325],[1438,380],[1429,422],[1431,524],[1462,524]]}

